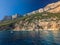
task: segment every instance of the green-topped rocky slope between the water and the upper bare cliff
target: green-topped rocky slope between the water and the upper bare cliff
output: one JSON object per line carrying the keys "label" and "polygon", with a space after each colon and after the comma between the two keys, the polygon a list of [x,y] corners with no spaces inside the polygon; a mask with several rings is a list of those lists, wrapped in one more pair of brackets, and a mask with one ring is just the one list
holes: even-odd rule
{"label": "green-topped rocky slope between the water and the upper bare cliff", "polygon": [[60,13],[36,13],[0,23],[0,30],[59,30]]}

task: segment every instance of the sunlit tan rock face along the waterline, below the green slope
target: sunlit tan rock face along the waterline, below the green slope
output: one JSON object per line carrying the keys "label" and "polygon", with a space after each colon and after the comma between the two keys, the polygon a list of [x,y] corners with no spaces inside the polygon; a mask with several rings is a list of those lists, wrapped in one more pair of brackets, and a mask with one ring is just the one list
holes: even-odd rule
{"label": "sunlit tan rock face along the waterline, below the green slope", "polygon": [[[23,26],[21,26],[23,25]],[[15,24],[15,31],[19,30],[28,30],[28,31],[33,31],[33,30],[59,30],[60,29],[60,23],[56,21],[41,21],[39,20],[38,22],[31,22],[28,24],[28,22],[24,23],[19,23]]]}

